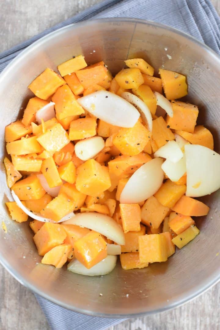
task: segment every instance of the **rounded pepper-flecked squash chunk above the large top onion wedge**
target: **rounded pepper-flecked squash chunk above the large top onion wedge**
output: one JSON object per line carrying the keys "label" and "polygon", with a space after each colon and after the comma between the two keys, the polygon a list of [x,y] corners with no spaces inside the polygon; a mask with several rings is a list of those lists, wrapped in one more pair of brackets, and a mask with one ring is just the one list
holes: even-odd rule
{"label": "rounded pepper-flecked squash chunk above the large top onion wedge", "polygon": [[138,88],[144,82],[139,69],[122,69],[116,74],[115,80],[123,89]]}

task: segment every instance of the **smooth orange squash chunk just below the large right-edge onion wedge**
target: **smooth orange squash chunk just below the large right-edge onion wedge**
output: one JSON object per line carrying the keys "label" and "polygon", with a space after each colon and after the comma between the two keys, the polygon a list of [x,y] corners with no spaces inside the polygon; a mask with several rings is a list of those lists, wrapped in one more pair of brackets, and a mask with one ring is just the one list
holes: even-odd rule
{"label": "smooth orange squash chunk just below the large right-edge onion wedge", "polygon": [[172,210],[183,215],[202,216],[208,214],[209,207],[203,202],[183,195],[173,206]]}

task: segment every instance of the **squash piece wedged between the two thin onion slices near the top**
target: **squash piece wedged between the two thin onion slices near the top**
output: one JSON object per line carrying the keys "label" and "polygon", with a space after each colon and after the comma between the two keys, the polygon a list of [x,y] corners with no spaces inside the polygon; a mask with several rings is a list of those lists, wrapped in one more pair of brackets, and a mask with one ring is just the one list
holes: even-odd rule
{"label": "squash piece wedged between the two thin onion slices near the top", "polygon": [[147,105],[151,114],[155,115],[157,110],[157,99],[151,88],[143,84],[137,89],[132,89],[132,91]]}

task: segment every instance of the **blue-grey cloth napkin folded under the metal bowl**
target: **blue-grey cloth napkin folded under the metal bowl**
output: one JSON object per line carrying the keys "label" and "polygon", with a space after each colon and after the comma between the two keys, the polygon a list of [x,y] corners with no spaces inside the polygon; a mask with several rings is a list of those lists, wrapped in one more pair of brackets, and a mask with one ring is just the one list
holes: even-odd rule
{"label": "blue-grey cloth napkin folded under the metal bowl", "polygon": [[[220,19],[209,0],[105,0],[0,54],[0,71],[20,51],[47,33],[102,17],[133,17],[164,23],[191,34],[220,54]],[[75,313],[40,296],[36,298],[52,330],[101,330],[124,320]]]}

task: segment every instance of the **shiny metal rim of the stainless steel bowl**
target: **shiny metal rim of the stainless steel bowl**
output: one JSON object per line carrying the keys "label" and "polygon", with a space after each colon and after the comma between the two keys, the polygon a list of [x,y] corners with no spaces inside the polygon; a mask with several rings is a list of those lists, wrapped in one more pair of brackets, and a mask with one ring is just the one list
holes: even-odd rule
{"label": "shiny metal rim of the stainless steel bowl", "polygon": [[[154,26],[155,28],[162,28],[168,31],[171,31],[173,33],[176,33],[178,35],[181,35],[183,37],[185,37],[186,39],[188,39],[189,41],[192,41],[193,43],[197,44],[198,46],[200,46],[202,49],[206,50],[211,56],[213,56],[217,61],[219,61],[220,64],[220,56],[214,51],[212,50],[210,47],[206,46],[204,43],[202,43],[201,41],[199,41],[198,39],[192,37],[191,35],[189,35],[188,33],[182,32],[174,27],[168,26],[166,24],[162,24],[162,23],[158,23],[158,22],[154,22],[151,20],[144,20],[144,19],[138,19],[138,18],[127,18],[127,17],[108,17],[108,18],[99,18],[99,19],[89,19],[89,20],[85,20],[85,21],[81,21],[81,22],[77,22],[77,23],[72,23],[72,24],[68,24],[65,25],[55,31],[52,31],[50,33],[48,33],[47,35],[39,38],[38,40],[36,40],[35,42],[33,42],[31,45],[29,45],[27,48],[23,49],[4,69],[3,71],[0,73],[0,86],[1,86],[1,82],[4,80],[4,77],[6,75],[8,75],[10,73],[10,71],[13,70],[13,68],[16,66],[16,64],[22,60],[23,56],[28,55],[28,53],[30,51],[32,51],[33,49],[37,48],[39,45],[44,44],[45,42],[47,42],[50,39],[53,39],[54,36],[56,36],[57,34],[59,34],[60,32],[62,32],[65,29],[72,29],[75,26],[88,26],[88,25],[93,25],[93,24],[97,24],[99,22],[110,22],[110,21],[120,21],[120,22],[134,22],[134,23],[142,23],[145,25],[150,25],[150,26]],[[86,315],[91,315],[91,316],[99,316],[99,317],[108,317],[108,318],[129,318],[129,317],[139,317],[139,316],[144,316],[144,315],[150,315],[150,314],[156,314],[156,313],[160,313],[160,312],[165,312],[168,311],[170,309],[173,309],[175,307],[180,307],[183,304],[193,300],[194,298],[198,297],[199,295],[201,295],[202,293],[204,293],[205,291],[207,291],[208,289],[210,289],[212,286],[214,286],[215,284],[217,284],[220,281],[220,272],[219,271],[215,271],[212,275],[210,275],[206,281],[204,282],[203,285],[197,285],[195,287],[195,289],[192,289],[190,291],[190,293],[175,301],[172,304],[167,304],[166,307],[163,308],[158,308],[156,310],[152,310],[152,311],[148,311],[148,312],[141,312],[141,313],[131,313],[131,314],[106,314],[106,313],[97,313],[97,312],[93,312],[87,309],[81,309],[81,308],[76,308],[73,305],[61,302],[51,296],[49,296],[48,294],[46,294],[45,292],[39,290],[38,288],[35,287],[35,285],[33,285],[31,283],[31,281],[25,280],[15,269],[13,269],[13,267],[8,263],[8,261],[4,258],[4,256],[2,255],[1,251],[0,251],[0,264],[22,285],[24,285],[26,288],[30,289],[34,294],[37,294],[45,299],[47,299],[48,301],[66,308],[68,310],[77,312],[77,313],[82,313],[82,314],[86,314]],[[219,267],[220,270],[220,267]]]}

